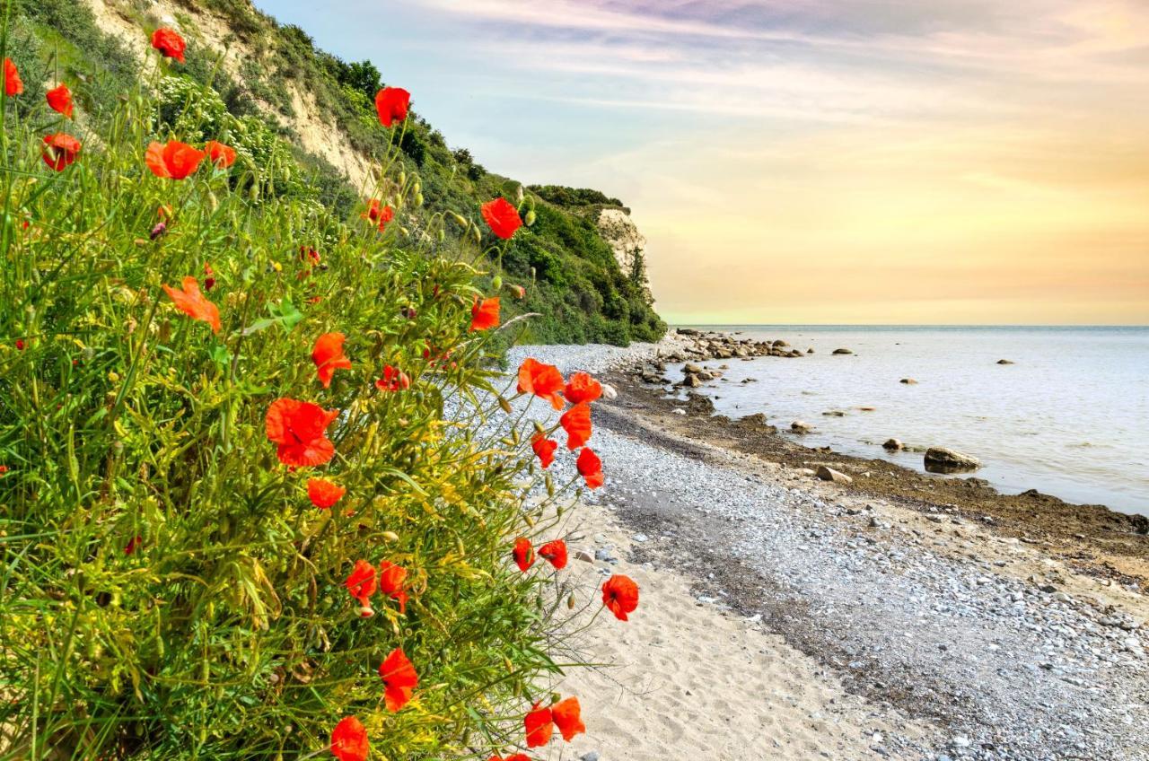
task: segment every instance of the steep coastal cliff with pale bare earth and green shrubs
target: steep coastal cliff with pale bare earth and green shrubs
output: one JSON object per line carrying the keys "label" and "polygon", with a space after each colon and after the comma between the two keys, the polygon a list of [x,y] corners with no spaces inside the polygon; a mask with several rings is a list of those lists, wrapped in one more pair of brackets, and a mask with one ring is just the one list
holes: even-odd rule
{"label": "steep coastal cliff with pale bare earth and green shrubs", "polygon": [[[192,143],[225,139],[256,172],[267,162],[292,162],[296,171],[277,185],[278,193],[314,200],[346,218],[372,193],[387,192],[378,159],[392,146],[373,103],[383,74],[371,61],[347,62],[318,49],[304,30],[279,24],[250,0],[44,0],[17,6],[13,21],[16,61],[36,74],[26,77],[37,82],[31,86],[43,89],[48,78],[75,83],[90,118],[100,120],[101,103],[144,84],[159,91],[162,131]],[[186,38],[186,64],[156,72],[146,63],[148,37],[159,26]],[[585,205],[569,206],[488,171],[417,113],[398,147],[396,160],[407,177],[418,178],[423,200],[422,209],[406,209],[404,229],[417,231],[421,216],[435,214],[477,218],[478,206],[499,195],[535,212],[534,224],[501,262],[488,263],[492,278],[501,275],[525,289],[524,298],[503,300],[507,316],[546,315],[527,325],[526,338],[626,345],[663,335],[641,248],[627,244],[614,253],[620,244],[610,236],[618,214],[625,217],[622,202],[607,201],[611,222],[600,225],[597,209],[589,214]],[[597,191],[561,190],[569,198],[607,199]],[[627,236],[641,238],[637,229]]]}

